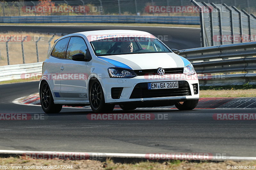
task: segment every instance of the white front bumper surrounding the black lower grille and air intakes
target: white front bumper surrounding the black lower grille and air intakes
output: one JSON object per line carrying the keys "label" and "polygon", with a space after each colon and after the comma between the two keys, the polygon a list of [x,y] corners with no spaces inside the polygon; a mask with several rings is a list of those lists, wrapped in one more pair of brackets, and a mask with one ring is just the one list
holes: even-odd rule
{"label": "white front bumper surrounding the black lower grille and air intakes", "polygon": [[[186,81],[188,82],[191,95],[186,96],[173,96],[172,97],[150,97],[150,98],[136,98],[131,99],[131,94],[134,87],[139,83],[153,83],[153,82],[169,82],[169,81]],[[185,74],[170,74],[164,76],[137,76],[134,78],[102,78],[100,79],[100,84],[102,86],[105,102],[113,104],[122,104],[126,102],[136,103],[136,101],[156,101],[156,100],[173,100],[173,101],[185,101],[192,99],[199,99],[199,83],[197,75],[185,75]],[[194,89],[192,84],[198,84],[198,94],[194,94]],[[113,99],[111,96],[111,88],[113,87],[123,87],[119,99]]]}

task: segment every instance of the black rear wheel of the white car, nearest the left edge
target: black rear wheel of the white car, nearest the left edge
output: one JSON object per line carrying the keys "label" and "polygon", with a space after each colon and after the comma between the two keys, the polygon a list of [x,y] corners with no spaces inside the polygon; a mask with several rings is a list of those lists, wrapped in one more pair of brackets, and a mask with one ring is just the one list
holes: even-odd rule
{"label": "black rear wheel of the white car, nearest the left edge", "polygon": [[52,97],[52,92],[47,84],[46,81],[44,81],[40,85],[40,102],[42,109],[44,110],[45,113],[59,113],[60,110],[62,109],[61,104],[54,104],[53,102],[53,97]]}

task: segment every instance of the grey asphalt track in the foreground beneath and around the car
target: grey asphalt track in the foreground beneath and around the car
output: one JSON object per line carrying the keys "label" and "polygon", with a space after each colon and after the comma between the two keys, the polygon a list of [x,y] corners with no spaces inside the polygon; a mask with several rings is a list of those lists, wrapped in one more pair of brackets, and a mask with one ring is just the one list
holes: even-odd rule
{"label": "grey asphalt track in the foreground beneath and around the car", "polygon": [[[43,113],[41,107],[13,104],[37,92],[38,82],[0,85],[0,113]],[[167,120],[92,121],[90,109],[63,108],[46,120],[1,121],[1,150],[112,153],[223,153],[256,156],[255,121],[215,121],[215,113],[255,113],[255,109],[191,111],[134,110],[113,113],[167,114]]]}

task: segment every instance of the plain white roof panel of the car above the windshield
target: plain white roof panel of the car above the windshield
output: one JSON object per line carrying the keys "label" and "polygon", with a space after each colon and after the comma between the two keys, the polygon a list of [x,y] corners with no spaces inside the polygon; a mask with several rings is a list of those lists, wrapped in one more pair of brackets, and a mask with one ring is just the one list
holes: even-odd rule
{"label": "plain white roof panel of the car above the windshield", "polygon": [[150,34],[145,31],[137,31],[137,30],[97,30],[97,31],[84,31],[79,32],[80,34],[84,34],[86,37],[90,35],[105,35],[105,34],[126,34],[126,33],[141,33],[141,34]]}

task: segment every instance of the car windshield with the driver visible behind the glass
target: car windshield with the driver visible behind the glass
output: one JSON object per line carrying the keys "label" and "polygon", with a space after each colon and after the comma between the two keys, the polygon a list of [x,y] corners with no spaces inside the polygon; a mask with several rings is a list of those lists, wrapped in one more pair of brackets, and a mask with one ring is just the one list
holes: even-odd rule
{"label": "car windshield with the driver visible behind the glass", "polygon": [[96,55],[161,53],[171,51],[155,38],[118,37],[91,41]]}

